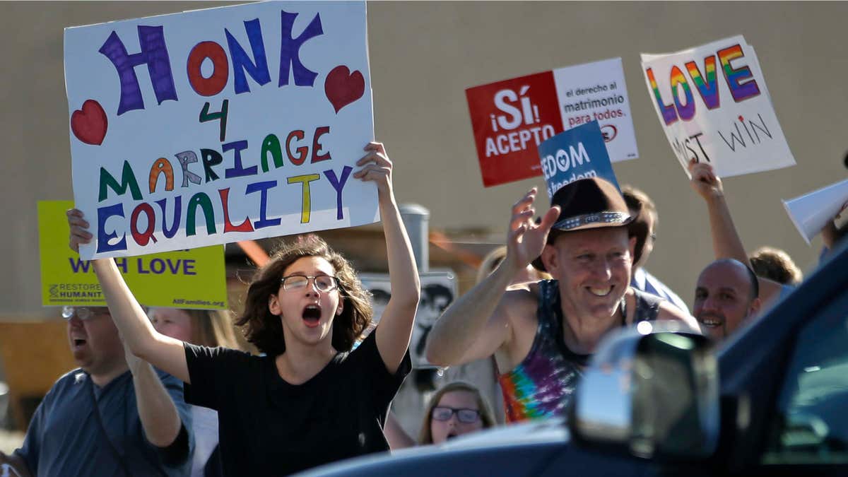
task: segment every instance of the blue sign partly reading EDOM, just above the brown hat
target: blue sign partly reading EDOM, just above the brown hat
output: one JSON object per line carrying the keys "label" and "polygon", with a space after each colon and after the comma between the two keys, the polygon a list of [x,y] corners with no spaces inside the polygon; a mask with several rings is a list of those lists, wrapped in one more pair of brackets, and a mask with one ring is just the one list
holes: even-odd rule
{"label": "blue sign partly reading EDOM, just above the brown hat", "polygon": [[621,190],[616,173],[612,171],[598,121],[551,137],[539,144],[538,155],[542,160],[544,181],[548,185],[548,199],[567,183],[587,177],[606,179]]}

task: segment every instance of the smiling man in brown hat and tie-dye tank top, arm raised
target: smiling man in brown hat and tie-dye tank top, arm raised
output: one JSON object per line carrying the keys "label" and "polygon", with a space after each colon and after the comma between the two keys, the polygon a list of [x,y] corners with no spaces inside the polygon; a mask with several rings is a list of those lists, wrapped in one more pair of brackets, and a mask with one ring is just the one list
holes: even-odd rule
{"label": "smiling man in brown hat and tie-dye tank top, arm raised", "polygon": [[[452,366],[494,354],[506,420],[560,415],[600,339],[653,319],[697,322],[628,286],[635,239],[618,189],[593,177],[558,190],[533,222],[536,189],[512,207],[500,266],[444,312],[427,341],[427,360]],[[533,266],[554,278],[509,287]]]}

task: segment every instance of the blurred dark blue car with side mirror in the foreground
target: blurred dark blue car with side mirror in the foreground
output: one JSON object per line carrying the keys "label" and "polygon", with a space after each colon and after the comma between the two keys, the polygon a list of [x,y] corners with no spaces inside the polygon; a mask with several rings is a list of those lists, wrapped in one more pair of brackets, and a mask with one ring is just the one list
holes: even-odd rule
{"label": "blurred dark blue car with side mirror in the foreground", "polygon": [[666,324],[611,336],[568,418],[308,474],[848,475],[848,244],[717,349]]}

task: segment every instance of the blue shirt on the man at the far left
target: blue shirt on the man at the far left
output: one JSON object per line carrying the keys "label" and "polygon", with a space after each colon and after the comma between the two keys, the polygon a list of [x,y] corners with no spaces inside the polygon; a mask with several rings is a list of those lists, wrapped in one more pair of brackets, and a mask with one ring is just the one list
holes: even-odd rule
{"label": "blue shirt on the man at the far left", "polygon": [[177,446],[180,438],[165,448],[148,442],[129,371],[100,388],[90,382],[88,373],[75,369],[59,378],[44,396],[23,446],[15,453],[33,475],[125,474],[94,415],[93,387],[103,428],[131,475],[187,475],[194,446],[191,412],[182,398],[182,382],[158,373],[188,433],[187,446],[185,441]]}

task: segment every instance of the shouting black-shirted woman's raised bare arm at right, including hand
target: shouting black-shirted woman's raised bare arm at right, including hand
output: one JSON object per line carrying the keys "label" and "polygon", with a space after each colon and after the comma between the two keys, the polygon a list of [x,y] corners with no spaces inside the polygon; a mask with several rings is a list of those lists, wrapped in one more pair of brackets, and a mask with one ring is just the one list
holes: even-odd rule
{"label": "shouting black-shirted woman's raised bare arm at right, including hand", "polygon": [[390,373],[395,373],[410,346],[421,283],[410,238],[406,236],[404,222],[394,200],[392,161],[388,159],[382,143],[368,143],[365,151],[365,156],[356,162],[357,166],[363,167],[354,173],[354,177],[377,183],[382,230],[386,235],[388,276],[392,285],[392,296],[374,333],[377,334],[377,350],[382,362]]}

